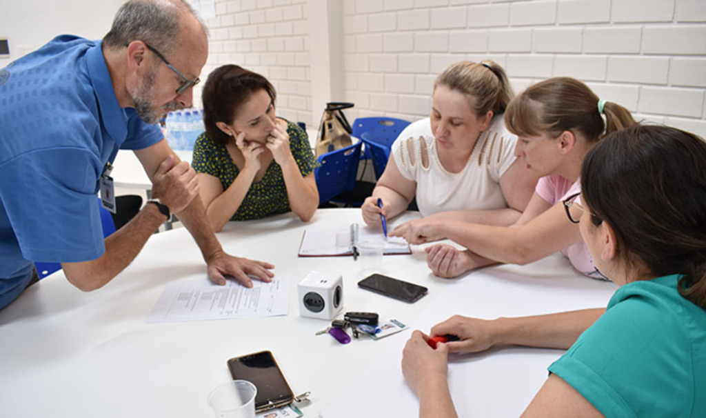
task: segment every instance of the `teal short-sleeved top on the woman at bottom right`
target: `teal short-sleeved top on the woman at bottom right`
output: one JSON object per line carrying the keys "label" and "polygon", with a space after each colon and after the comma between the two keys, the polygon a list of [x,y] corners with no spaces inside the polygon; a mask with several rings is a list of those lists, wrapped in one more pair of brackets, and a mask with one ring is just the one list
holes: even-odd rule
{"label": "teal short-sleeved top on the woman at bottom right", "polygon": [[706,311],[679,277],[618,289],[549,371],[606,417],[706,417]]}

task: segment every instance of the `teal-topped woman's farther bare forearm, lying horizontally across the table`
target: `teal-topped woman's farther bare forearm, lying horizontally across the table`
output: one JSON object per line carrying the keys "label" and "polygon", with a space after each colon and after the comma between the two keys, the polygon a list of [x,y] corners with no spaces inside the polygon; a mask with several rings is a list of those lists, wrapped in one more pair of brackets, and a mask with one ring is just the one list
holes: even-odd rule
{"label": "teal-topped woman's farther bare forearm, lying horizontally across the table", "polygon": [[498,318],[493,321],[496,323],[496,342],[493,345],[567,350],[605,311],[604,308],[596,308],[520,318]]}

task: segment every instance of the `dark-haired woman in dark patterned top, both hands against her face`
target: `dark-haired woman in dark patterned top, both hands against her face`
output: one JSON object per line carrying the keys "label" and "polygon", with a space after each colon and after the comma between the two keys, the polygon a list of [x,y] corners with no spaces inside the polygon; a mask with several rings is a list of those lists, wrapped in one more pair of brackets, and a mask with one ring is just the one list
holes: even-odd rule
{"label": "dark-haired woman in dark patterned top, both hands against her face", "polygon": [[275,97],[266,78],[236,65],[216,68],[206,80],[206,131],[196,140],[191,166],[215,231],[229,220],[290,210],[306,222],[318,207],[309,138],[277,118]]}

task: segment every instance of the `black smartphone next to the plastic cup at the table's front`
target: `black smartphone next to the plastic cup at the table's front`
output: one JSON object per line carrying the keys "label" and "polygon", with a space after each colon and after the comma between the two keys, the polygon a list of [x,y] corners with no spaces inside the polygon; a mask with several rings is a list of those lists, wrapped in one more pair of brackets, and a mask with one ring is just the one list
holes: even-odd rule
{"label": "black smartphone next to the plastic cup at the table's front", "polygon": [[258,388],[256,412],[289,405],[294,400],[294,393],[272,352],[261,351],[234,357],[228,360],[228,369],[234,379],[252,382]]}

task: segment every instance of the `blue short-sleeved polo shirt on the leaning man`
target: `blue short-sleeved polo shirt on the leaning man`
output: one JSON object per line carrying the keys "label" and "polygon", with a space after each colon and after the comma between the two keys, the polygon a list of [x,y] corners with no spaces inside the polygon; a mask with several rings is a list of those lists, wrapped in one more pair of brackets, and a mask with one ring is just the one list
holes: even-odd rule
{"label": "blue short-sleeved polo shirt on the leaning man", "polygon": [[34,261],[102,255],[106,162],[161,140],[159,126],[120,108],[100,41],[61,35],[0,70],[0,308]]}

